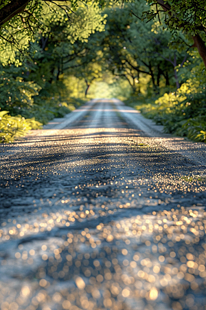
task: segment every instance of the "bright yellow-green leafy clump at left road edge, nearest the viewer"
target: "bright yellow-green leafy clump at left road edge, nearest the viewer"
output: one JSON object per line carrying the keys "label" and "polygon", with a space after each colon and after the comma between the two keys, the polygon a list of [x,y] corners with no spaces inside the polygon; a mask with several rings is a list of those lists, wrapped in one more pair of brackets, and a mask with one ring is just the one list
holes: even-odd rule
{"label": "bright yellow-green leafy clump at left road edge, nearest the viewer", "polygon": [[0,112],[0,143],[11,143],[14,139],[24,136],[29,130],[41,128],[35,118],[25,119],[21,115],[10,116],[8,111]]}

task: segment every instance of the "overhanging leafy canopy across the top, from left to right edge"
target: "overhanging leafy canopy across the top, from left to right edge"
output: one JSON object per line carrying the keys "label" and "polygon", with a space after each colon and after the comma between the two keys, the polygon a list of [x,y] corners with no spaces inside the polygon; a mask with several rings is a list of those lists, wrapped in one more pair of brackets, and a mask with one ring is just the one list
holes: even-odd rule
{"label": "overhanging leafy canopy across the top, from left to right edge", "polygon": [[[133,8],[138,10],[144,0],[128,0],[128,2],[132,6],[131,12],[135,14]],[[148,20],[158,18],[161,21],[161,15],[163,15],[163,21],[174,37],[178,37],[179,32],[192,37],[193,47],[198,49],[206,66],[205,1],[150,0],[147,4],[150,5],[150,10],[146,10],[143,16]],[[27,46],[33,39],[35,30],[41,30],[42,34],[49,32],[50,19],[54,19],[57,23],[62,23],[62,19],[67,21],[65,34],[71,42],[76,39],[87,40],[95,30],[104,28],[102,26],[104,17],[100,14],[100,8],[104,6],[111,6],[111,3],[107,0],[95,0],[95,2],[87,0],[84,3],[77,0],[71,0],[69,3],[53,0],[2,0],[0,5],[1,48],[6,46],[8,49],[7,43],[12,42],[12,48],[16,46],[21,50],[23,45]],[[139,12],[136,16],[138,15]],[[142,19],[141,14],[139,18]]]}

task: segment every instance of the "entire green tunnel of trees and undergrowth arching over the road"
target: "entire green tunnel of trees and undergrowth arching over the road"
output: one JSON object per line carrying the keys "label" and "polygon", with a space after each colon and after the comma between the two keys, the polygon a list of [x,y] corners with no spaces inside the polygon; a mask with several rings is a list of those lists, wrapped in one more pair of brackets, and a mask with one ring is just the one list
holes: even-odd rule
{"label": "entire green tunnel of trees and undergrowth arching over the road", "polygon": [[206,3],[0,2],[0,141],[119,98],[206,142]]}

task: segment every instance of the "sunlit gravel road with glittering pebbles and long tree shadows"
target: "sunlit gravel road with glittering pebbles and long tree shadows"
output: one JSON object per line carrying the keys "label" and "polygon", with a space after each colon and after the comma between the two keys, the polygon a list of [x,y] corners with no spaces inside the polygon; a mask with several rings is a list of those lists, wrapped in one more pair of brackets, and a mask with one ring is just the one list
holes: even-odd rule
{"label": "sunlit gravel road with glittering pebbles and long tree shadows", "polygon": [[117,100],[1,145],[1,310],[205,310],[206,146]]}

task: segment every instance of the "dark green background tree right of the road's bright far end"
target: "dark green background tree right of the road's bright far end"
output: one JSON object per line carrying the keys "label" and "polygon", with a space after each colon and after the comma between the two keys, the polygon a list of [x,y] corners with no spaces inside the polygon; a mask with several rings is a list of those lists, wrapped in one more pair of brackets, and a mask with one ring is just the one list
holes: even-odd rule
{"label": "dark green background tree right of the road's bright far end", "polygon": [[[146,10],[144,3],[138,12]],[[102,39],[104,55],[108,68],[115,76],[127,79],[133,93],[139,92],[141,79],[150,76],[152,87],[159,92],[160,84],[179,88],[176,66],[183,66],[187,58],[186,49],[170,50],[170,32],[163,31],[159,21],[139,21],[130,13],[130,6],[107,10],[106,32]],[[97,34],[94,34],[96,36]],[[163,83],[162,83],[163,82]]]}

